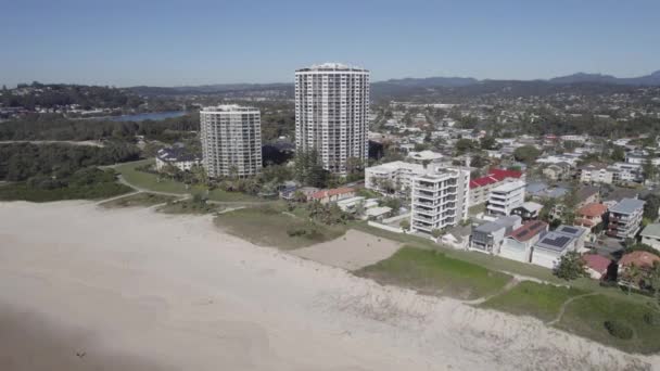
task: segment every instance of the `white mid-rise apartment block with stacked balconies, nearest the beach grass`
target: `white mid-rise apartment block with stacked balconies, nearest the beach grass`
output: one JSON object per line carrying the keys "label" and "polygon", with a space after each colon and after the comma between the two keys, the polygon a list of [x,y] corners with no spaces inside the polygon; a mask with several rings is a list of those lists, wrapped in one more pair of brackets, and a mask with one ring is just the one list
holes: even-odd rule
{"label": "white mid-rise apartment block with stacked balconies, nearest the beach grass", "polygon": [[470,184],[468,168],[441,168],[412,178],[410,228],[431,233],[467,220]]}

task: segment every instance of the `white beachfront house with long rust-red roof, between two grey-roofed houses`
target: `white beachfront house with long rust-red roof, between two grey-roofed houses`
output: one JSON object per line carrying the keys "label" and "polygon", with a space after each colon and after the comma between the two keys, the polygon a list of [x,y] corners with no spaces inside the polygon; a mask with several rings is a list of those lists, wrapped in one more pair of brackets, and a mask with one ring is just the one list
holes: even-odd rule
{"label": "white beachfront house with long rust-red roof, between two grey-roofed houses", "polygon": [[548,231],[548,225],[540,220],[528,221],[506,236],[499,256],[530,263],[532,246]]}

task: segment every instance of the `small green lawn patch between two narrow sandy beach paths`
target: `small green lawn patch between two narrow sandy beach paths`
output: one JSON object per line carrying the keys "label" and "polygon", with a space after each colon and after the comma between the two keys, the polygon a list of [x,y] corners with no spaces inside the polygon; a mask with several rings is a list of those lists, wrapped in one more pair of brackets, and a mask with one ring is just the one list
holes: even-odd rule
{"label": "small green lawn patch between two narrow sandy beach paths", "polygon": [[513,289],[490,298],[482,306],[513,315],[532,316],[548,322],[557,317],[566,300],[584,293],[572,287],[523,281]]}

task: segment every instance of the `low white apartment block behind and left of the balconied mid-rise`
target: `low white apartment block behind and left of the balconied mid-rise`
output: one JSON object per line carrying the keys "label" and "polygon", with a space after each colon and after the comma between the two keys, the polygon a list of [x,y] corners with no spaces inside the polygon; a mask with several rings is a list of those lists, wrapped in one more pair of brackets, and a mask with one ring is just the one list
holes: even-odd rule
{"label": "low white apartment block behind and left of the balconied mid-rise", "polygon": [[412,178],[426,174],[423,165],[395,161],[365,169],[365,188],[381,193],[412,189]]}

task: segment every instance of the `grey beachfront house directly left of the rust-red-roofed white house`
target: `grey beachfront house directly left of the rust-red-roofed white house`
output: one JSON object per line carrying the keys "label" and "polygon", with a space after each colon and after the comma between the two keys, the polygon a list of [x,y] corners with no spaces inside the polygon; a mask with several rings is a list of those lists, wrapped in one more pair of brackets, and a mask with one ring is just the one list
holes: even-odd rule
{"label": "grey beachfront house directly left of the rust-red-roofed white house", "polygon": [[521,225],[522,219],[517,215],[503,216],[485,222],[472,229],[470,250],[497,255],[505,236]]}

